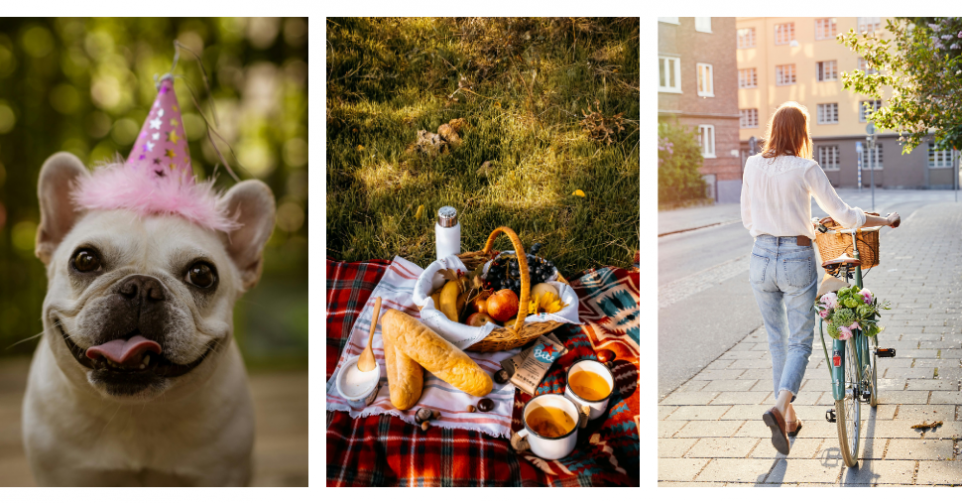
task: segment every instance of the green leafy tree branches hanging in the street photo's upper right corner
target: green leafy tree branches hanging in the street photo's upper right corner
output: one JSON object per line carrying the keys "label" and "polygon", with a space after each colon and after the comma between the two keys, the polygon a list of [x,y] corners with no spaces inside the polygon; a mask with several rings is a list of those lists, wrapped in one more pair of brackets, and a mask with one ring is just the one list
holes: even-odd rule
{"label": "green leafy tree branches hanging in the street photo's upper right corner", "polygon": [[903,153],[934,134],[939,148],[962,149],[962,18],[895,18],[890,38],[849,30],[838,40],[870,70],[842,72],[845,89],[882,99],[868,115],[880,130],[898,131]]}

